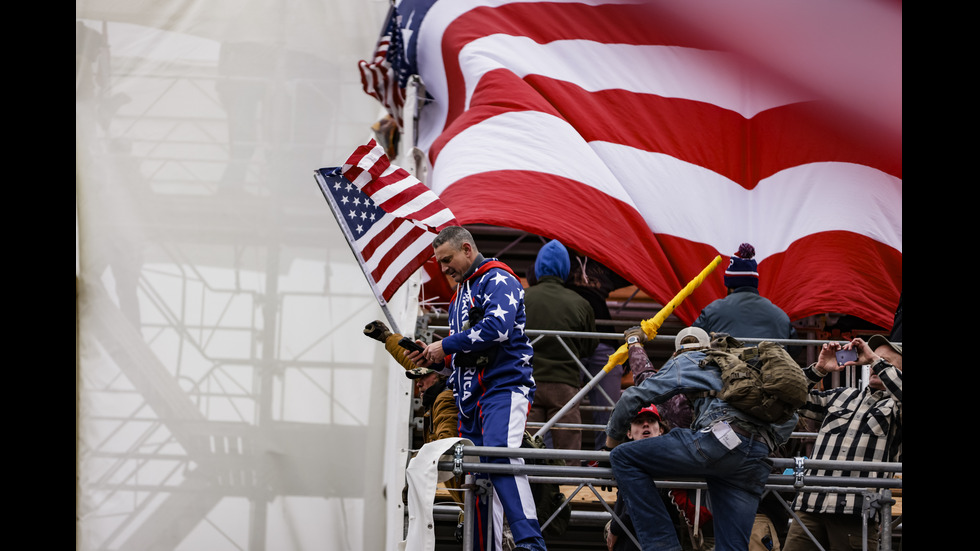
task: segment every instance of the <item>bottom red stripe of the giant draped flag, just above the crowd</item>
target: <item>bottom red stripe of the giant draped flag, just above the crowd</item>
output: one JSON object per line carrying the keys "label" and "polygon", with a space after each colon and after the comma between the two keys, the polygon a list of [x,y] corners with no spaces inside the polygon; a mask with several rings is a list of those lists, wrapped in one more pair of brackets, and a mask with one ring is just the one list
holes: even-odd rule
{"label": "bottom red stripe of the giant draped flag, just above the crowd", "polygon": [[[664,303],[719,254],[703,243],[652,233],[636,210],[574,180],[499,171],[470,176],[458,183],[461,185],[454,185],[443,194],[443,200],[453,205],[453,211],[465,223],[495,224],[506,218],[510,221],[508,227],[574,243],[573,248],[590,251],[590,258],[616,266],[620,275]],[[535,223],[545,214],[537,204],[499,200],[501,196],[520,196],[531,188],[535,194],[549,198],[549,212],[560,213],[549,216],[544,229]],[[624,243],[627,236],[627,251],[623,246],[614,246]],[[809,235],[763,260],[759,264],[760,293],[790,319],[860,311],[862,319],[890,327],[894,315],[890,302],[865,292],[866,281],[840,277],[840,251],[852,247],[856,248],[851,250],[863,252],[847,255],[849,266],[871,278],[873,286],[882,289],[882,296],[897,297],[902,287],[901,252],[847,232]],[[655,269],[651,270],[651,266]],[[786,281],[793,283],[787,285]],[[725,294],[722,271],[716,270],[674,314],[685,323],[692,323],[704,305]]]}

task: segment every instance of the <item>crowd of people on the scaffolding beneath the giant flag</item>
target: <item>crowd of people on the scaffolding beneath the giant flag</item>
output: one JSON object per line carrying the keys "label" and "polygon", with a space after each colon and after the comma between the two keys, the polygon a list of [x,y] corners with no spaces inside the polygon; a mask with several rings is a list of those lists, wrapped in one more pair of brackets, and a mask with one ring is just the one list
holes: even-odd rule
{"label": "crowd of people on the scaffolding beneath the giant flag", "polygon": [[[431,343],[418,340],[421,350],[409,351],[398,345],[402,336],[380,321],[364,330],[384,343],[415,380],[425,412],[425,442],[460,436],[477,446],[520,448],[529,421],[545,421],[563,410],[562,423],[580,423],[578,408],[565,406],[583,380],[597,373],[599,356],[608,358],[612,343],[577,335],[532,340],[527,331],[595,333],[596,320],[608,319],[601,308],[611,290],[596,285],[601,274],[593,272],[592,285],[582,286],[589,279],[586,263],[557,240],[542,247],[527,288],[509,266],[484,257],[462,227],[443,230],[433,250],[443,273],[456,282],[449,335]],[[788,515],[765,507],[766,482],[774,472],[769,458],[786,448],[798,426],[810,423],[806,426],[817,432],[809,450],[812,459],[901,462],[901,335],[823,344],[817,361],[801,366],[810,391],[788,420],[765,422],[731,406],[718,396],[720,369],[704,362],[712,337],[796,336],[788,316],[759,294],[754,254],[751,245],[743,244],[732,255],[724,275],[728,295],[678,333],[674,354],[662,366],[654,366],[647,355],[641,327],[623,334],[628,361],[618,368],[631,376],[632,385],[605,392],[614,408],[595,441],[595,449],[609,451],[618,487],[616,515],[597,535],[609,551],[681,550],[682,540],[694,549],[716,551],[818,549],[814,541],[830,551],[862,548],[860,493],[805,489],[791,496],[797,519],[787,522]],[[899,306],[899,331],[900,314]],[[840,351],[854,356],[841,359]],[[832,373],[864,365],[871,374],[864,388],[828,388]],[[549,435],[548,447],[583,448],[577,430]],[[480,460],[524,463],[520,457]],[[839,470],[806,474],[890,476]],[[536,513],[528,477],[476,476],[489,478],[493,495],[477,500],[474,549],[546,550],[544,519]],[[706,490],[657,486],[657,481],[678,478],[704,480]],[[447,482],[451,488],[458,485],[454,479]],[[461,503],[459,492],[451,493]],[[494,506],[488,508],[488,501]],[[486,540],[487,526],[493,527],[492,541]],[[875,549],[876,532],[867,533],[868,548]]]}

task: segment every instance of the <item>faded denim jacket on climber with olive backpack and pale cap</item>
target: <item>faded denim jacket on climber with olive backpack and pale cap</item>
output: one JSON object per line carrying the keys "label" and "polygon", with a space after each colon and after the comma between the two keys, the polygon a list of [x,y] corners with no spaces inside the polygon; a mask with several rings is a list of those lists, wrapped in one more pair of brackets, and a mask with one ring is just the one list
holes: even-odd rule
{"label": "faded denim jacket on climber with olive backpack and pale cap", "polygon": [[[651,403],[661,404],[679,393],[721,390],[721,371],[715,365],[701,367],[699,364],[704,357],[701,350],[674,356],[667,360],[660,371],[647,377],[639,385],[626,389],[609,417],[606,434],[615,440],[625,440],[633,416],[640,408]],[[696,398],[691,406],[694,408],[694,421],[690,427],[692,430],[708,428],[719,421],[728,421],[762,436],[770,450],[789,439],[797,422],[797,416],[794,415],[781,425],[772,425],[743,413],[714,396]]]}

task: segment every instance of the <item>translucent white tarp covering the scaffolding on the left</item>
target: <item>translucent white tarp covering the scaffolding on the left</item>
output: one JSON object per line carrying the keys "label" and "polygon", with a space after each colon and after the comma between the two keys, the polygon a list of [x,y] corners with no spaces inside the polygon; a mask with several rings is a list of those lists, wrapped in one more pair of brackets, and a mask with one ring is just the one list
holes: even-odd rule
{"label": "translucent white tarp covering the scaffolding on the left", "polygon": [[411,386],[313,177],[371,136],[387,11],[76,1],[79,549],[403,538]]}

